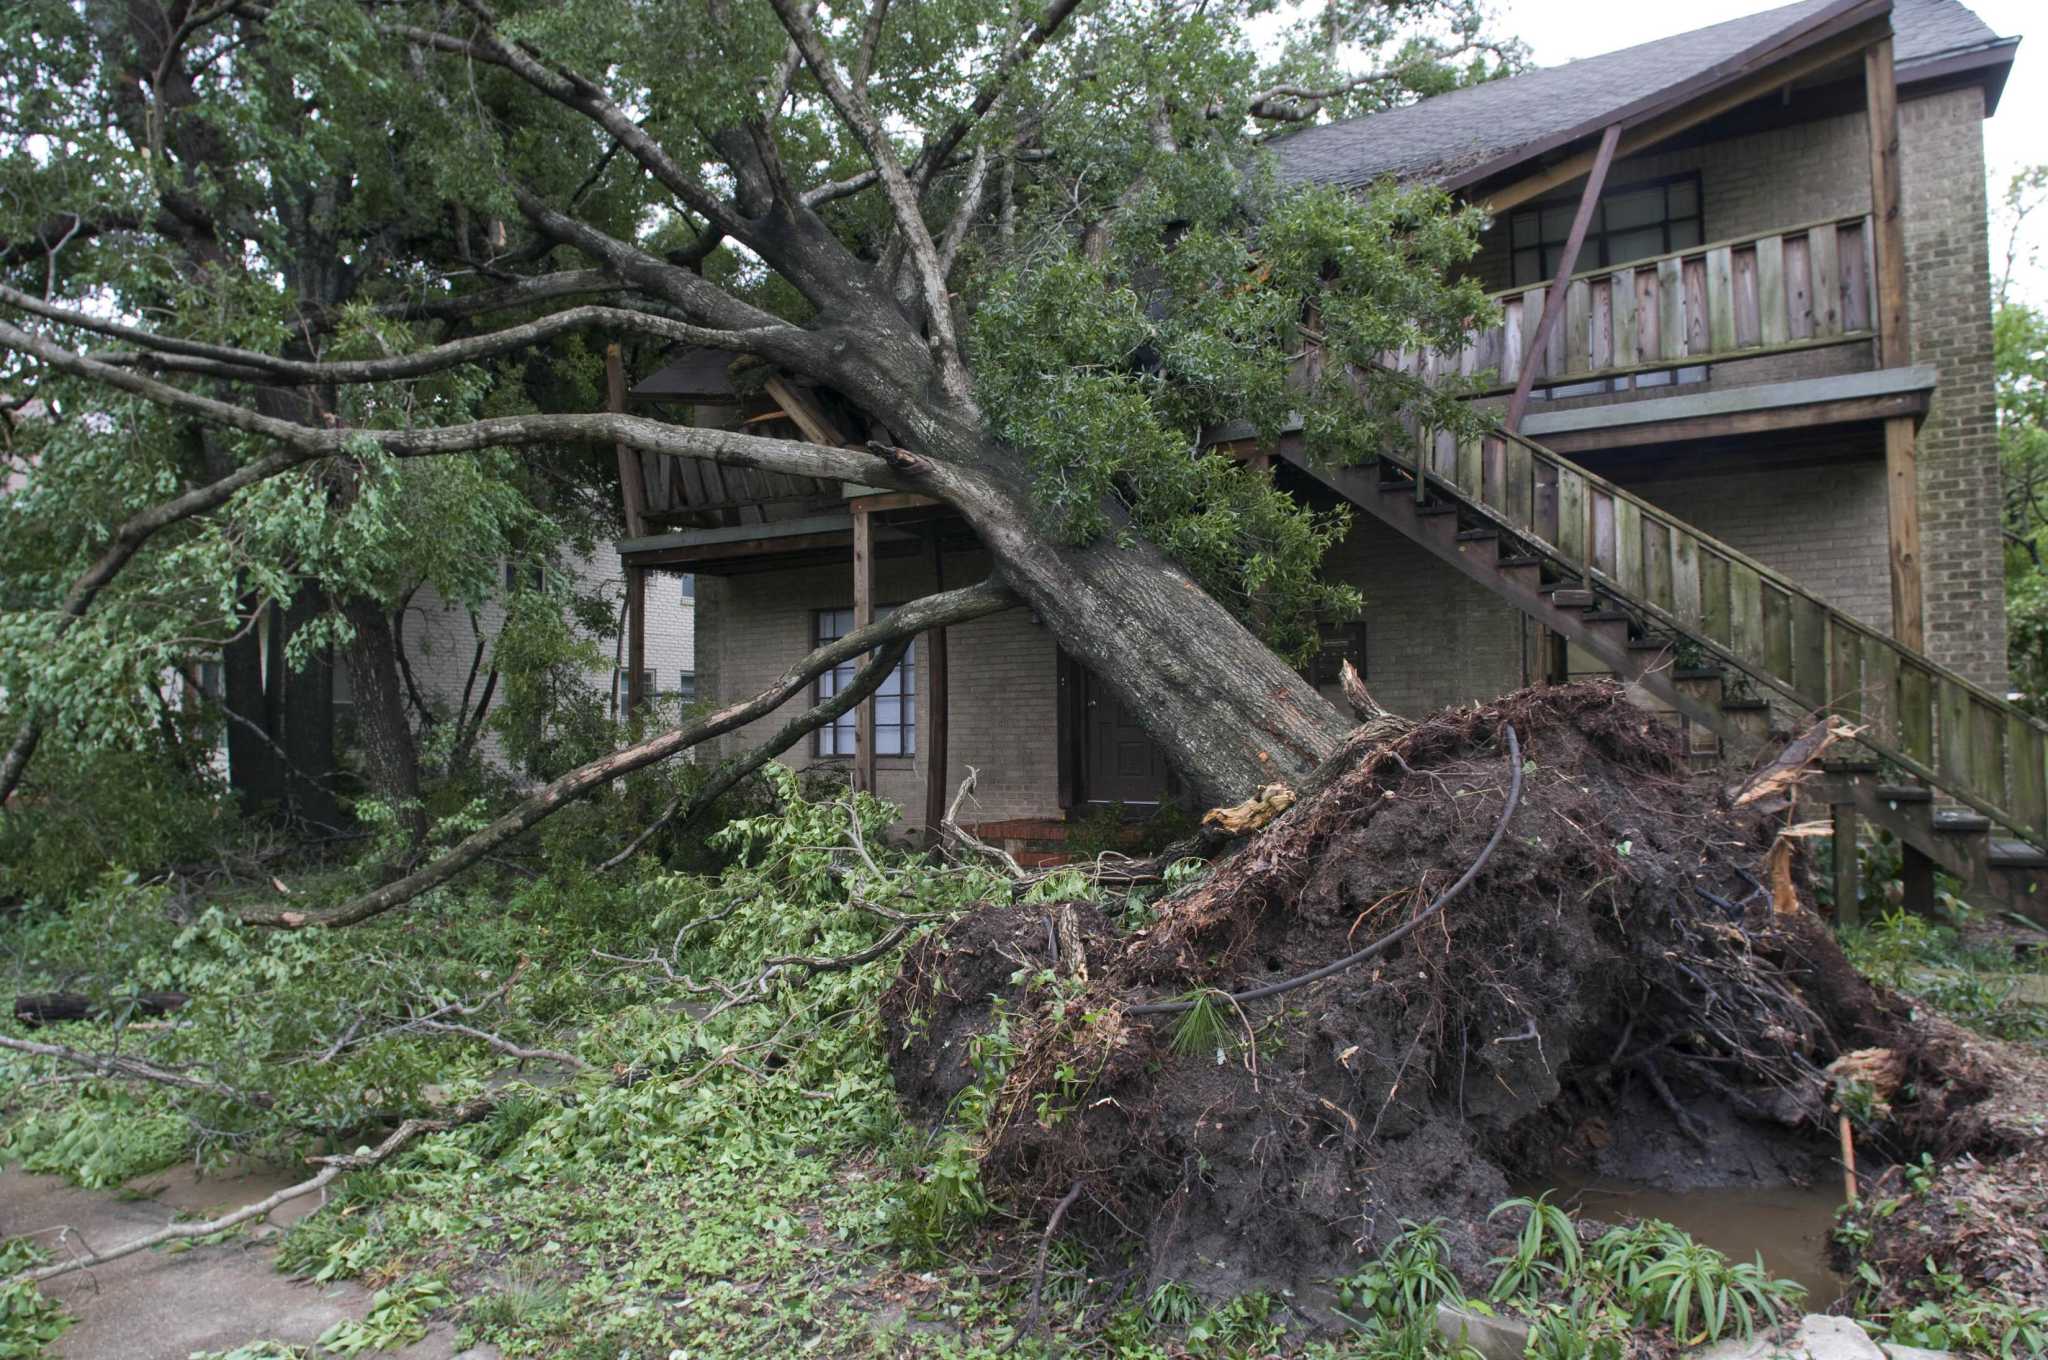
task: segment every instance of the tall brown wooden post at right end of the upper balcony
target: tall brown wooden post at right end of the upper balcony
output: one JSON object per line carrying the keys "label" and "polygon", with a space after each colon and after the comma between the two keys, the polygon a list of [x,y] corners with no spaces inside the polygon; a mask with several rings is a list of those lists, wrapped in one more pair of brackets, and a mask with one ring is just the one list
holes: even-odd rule
{"label": "tall brown wooden post at right end of the upper balcony", "polygon": [[[1878,326],[1878,367],[1911,363],[1907,340],[1907,223],[1898,203],[1898,84],[1892,39],[1864,49],[1864,100],[1870,113],[1870,223],[1876,281],[1872,311]],[[1890,518],[1892,637],[1919,651],[1927,645],[1921,606],[1919,455],[1913,418],[1884,422],[1884,494]]]}

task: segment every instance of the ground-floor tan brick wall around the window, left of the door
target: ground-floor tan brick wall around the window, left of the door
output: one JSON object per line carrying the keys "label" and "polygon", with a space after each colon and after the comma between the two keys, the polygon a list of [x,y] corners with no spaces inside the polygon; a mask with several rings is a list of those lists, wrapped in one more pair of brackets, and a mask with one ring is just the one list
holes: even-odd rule
{"label": "ground-floor tan brick wall around the window, left of the door", "polygon": [[[946,584],[981,580],[987,561],[969,555],[946,557]],[[924,557],[874,563],[877,600],[895,604],[932,590],[932,567]],[[698,682],[721,703],[745,698],[768,686],[791,662],[811,649],[815,612],[850,608],[852,565],[801,567],[745,576],[700,576]],[[977,770],[975,819],[1059,815],[1059,711],[1057,657],[1051,633],[1030,610],[1010,610],[948,629],[946,662],[952,676],[950,729],[946,743],[946,791],[958,789],[967,768]],[[903,809],[907,823],[924,821],[928,752],[932,731],[930,655],[918,647],[918,754],[881,756],[874,762],[879,793]],[[774,719],[731,733],[723,752],[766,739],[788,721],[797,703]],[[805,741],[782,760],[803,768],[817,764]],[[846,766],[844,760],[831,764]],[[969,815],[969,813],[963,813]]]}

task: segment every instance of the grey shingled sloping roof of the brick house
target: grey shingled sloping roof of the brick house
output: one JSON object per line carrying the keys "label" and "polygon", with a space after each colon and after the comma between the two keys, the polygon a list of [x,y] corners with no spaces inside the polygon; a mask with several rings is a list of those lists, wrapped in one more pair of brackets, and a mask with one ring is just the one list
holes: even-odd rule
{"label": "grey shingled sloping roof of the brick house", "polygon": [[[1798,0],[1708,29],[1538,68],[1341,123],[1305,127],[1270,143],[1284,184],[1434,180],[1456,186],[1475,172],[1536,156],[1651,104],[1712,88],[1745,63],[1882,14],[1866,0]],[[1866,14],[1866,10],[1870,14]],[[1958,0],[1892,0],[1898,82],[1970,63],[2011,61],[2001,39]],[[2003,76],[2001,76],[2003,80]],[[1993,92],[1995,98],[1995,92]]]}

